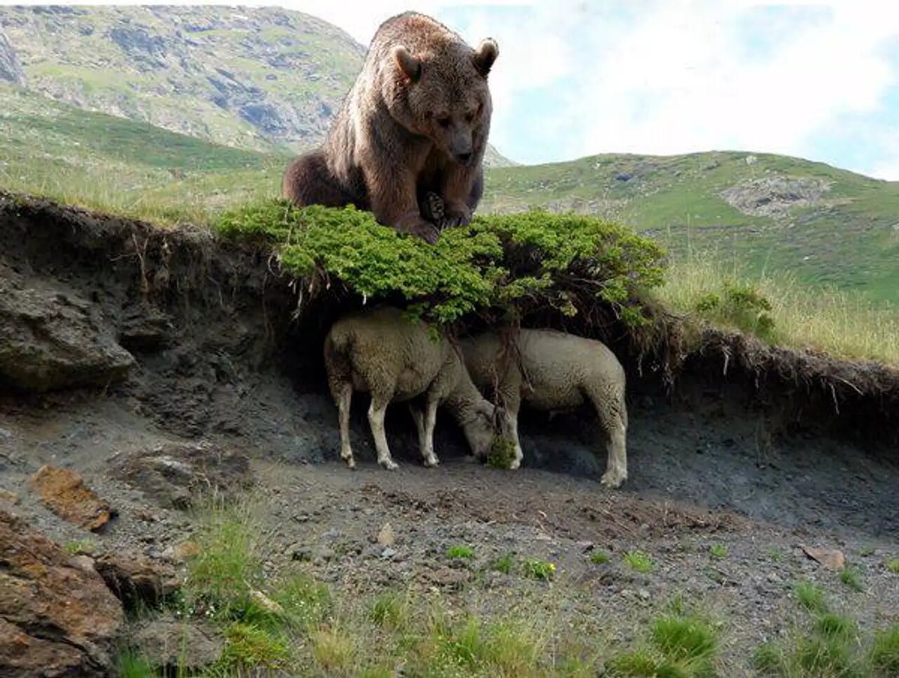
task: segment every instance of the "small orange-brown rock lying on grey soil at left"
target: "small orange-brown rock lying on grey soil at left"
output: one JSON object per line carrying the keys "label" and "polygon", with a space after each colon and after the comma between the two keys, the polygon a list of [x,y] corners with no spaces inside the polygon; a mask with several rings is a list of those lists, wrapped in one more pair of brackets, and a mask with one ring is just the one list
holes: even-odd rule
{"label": "small orange-brown rock lying on grey soil at left", "polygon": [[115,517],[115,510],[76,471],[45,464],[31,476],[31,487],[50,511],[69,523],[97,532]]}

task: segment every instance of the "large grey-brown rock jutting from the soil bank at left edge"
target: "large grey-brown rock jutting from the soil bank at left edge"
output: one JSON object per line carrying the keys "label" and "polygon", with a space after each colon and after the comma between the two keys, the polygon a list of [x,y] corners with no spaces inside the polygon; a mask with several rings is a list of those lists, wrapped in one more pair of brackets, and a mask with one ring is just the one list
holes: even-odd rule
{"label": "large grey-brown rock jutting from the soil bank at left edge", "polygon": [[106,385],[132,365],[95,305],[70,291],[26,286],[0,264],[0,385],[28,392]]}

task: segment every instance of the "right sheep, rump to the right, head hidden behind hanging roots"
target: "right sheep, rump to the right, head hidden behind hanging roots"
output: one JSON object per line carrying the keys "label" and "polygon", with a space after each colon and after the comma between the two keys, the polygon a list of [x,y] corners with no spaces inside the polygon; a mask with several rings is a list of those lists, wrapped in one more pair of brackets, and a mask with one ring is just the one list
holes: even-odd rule
{"label": "right sheep, rump to the right, head hidden behind hanging roots", "polygon": [[521,402],[549,411],[574,409],[590,401],[605,429],[608,461],[601,483],[617,488],[628,479],[624,368],[600,341],[555,330],[520,330],[503,346],[495,332],[461,342],[468,374],[505,409],[515,444],[510,468],[521,465],[518,412]]}

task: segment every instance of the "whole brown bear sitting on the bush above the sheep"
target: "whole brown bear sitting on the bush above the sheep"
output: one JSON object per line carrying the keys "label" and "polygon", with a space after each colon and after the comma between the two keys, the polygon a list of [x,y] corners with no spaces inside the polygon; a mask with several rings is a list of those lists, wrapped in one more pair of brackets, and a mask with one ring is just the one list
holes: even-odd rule
{"label": "whole brown bear sitting on the bush above the sheep", "polygon": [[285,198],[353,204],[431,243],[468,224],[484,190],[498,53],[494,40],[472,49],[420,13],[382,23],[324,145],[284,173]]}

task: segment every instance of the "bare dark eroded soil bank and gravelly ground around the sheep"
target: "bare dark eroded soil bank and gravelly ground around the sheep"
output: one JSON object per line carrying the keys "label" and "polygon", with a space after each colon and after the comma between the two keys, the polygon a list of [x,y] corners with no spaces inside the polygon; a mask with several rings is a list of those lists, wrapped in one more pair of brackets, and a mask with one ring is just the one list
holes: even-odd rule
{"label": "bare dark eroded soil bank and gravelly ground around the sheep", "polygon": [[[0,381],[0,487],[21,497],[13,512],[51,538],[79,539],[25,489],[44,463],[71,467],[118,509],[97,537],[105,548],[163,557],[189,520],[123,480],[117,460],[200,441],[254,460],[271,569],[290,567],[302,550],[316,576],[347,591],[427,589],[443,577],[452,595],[491,609],[512,605],[523,586],[547,604],[570,598],[571,614],[613,620],[627,635],[680,590],[732,618],[726,656],[740,667],[754,645],[788,628],[797,577],[823,583],[868,628],[899,618],[899,579],[885,566],[899,557],[895,371],[709,333],[669,388],[652,361],[641,375],[619,354],[631,384],[630,470],[615,492],[596,481],[605,453],[589,416],[523,417],[516,472],[466,461],[461,436],[441,418],[444,463],[425,470],[398,408],[387,426],[403,465],[391,474],[373,462],[367,402],[357,397],[362,469],[352,473],[337,460],[321,364],[339,309],[305,306],[291,320],[301,290],[290,282],[265,253],[200,229],[0,193],[4,320],[42,342],[52,367],[44,383],[66,384],[39,394]],[[389,558],[371,543],[385,522],[398,535]],[[484,562],[509,550],[554,559],[555,592],[495,577],[457,582],[441,554],[462,542]],[[608,550],[613,565],[592,565],[587,543]],[[726,559],[709,559],[713,543],[727,546]],[[844,550],[865,591],[841,586],[801,555],[803,544]],[[617,558],[633,549],[660,568],[629,573]]]}

